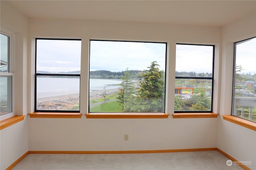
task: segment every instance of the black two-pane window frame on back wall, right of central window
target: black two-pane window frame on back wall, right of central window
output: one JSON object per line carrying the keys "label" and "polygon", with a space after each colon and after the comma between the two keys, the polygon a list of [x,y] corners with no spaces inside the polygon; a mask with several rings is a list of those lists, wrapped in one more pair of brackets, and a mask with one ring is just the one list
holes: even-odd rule
{"label": "black two-pane window frame on back wall, right of central window", "polygon": [[[200,110],[193,110],[193,111],[187,111],[187,110],[174,110],[174,115],[175,113],[212,113],[213,109],[213,90],[214,90],[214,57],[215,57],[215,45],[204,45],[204,44],[187,44],[187,43],[176,43],[176,45],[198,45],[198,46],[211,46],[212,47],[212,77],[183,77],[183,76],[176,76],[175,75],[175,80],[176,79],[203,79],[203,80],[212,80],[212,95],[211,95],[211,109],[209,111],[200,111]],[[176,58],[176,57],[175,57]],[[175,68],[176,72],[176,68]],[[175,104],[174,104],[175,105]]]}

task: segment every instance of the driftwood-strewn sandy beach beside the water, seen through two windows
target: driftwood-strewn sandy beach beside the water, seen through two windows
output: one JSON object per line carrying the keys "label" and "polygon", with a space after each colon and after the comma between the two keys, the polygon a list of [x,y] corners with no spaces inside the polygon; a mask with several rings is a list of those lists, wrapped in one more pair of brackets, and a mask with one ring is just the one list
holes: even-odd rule
{"label": "driftwood-strewn sandy beach beside the water, seen through two windows", "polygon": [[[119,90],[110,89],[106,90],[106,95],[117,93]],[[97,90],[89,93],[89,99],[96,100],[104,98],[105,90]],[[36,107],[38,110],[78,110],[80,104],[79,94],[70,94],[64,96],[55,96],[48,98],[38,98],[36,102]]]}

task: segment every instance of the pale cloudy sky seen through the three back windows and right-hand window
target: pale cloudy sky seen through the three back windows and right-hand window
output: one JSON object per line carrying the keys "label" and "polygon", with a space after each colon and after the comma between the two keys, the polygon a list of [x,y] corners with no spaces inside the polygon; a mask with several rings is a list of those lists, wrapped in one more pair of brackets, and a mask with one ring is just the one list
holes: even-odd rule
{"label": "pale cloudy sky seen through the three back windows and right-hand window", "polygon": [[[244,72],[256,72],[256,38],[237,45],[236,63]],[[80,70],[81,41],[37,40],[37,70],[68,72]],[[176,45],[176,71],[212,72],[213,47]],[[145,70],[152,61],[165,70],[166,44],[90,41],[90,71]]]}

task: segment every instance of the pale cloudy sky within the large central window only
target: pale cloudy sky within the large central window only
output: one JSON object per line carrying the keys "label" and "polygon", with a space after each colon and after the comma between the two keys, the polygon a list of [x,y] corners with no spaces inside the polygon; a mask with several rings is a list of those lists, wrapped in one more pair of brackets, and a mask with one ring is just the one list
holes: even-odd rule
{"label": "pale cloudy sky within the large central window only", "polygon": [[90,41],[90,71],[146,70],[153,61],[165,70],[166,44]]}

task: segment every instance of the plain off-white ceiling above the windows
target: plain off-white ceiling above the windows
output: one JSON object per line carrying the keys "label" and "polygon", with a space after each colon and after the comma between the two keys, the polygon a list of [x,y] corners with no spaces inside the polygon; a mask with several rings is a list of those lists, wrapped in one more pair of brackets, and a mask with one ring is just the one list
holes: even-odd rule
{"label": "plain off-white ceiling above the windows", "polygon": [[223,26],[255,12],[256,0],[9,0],[28,18]]}

